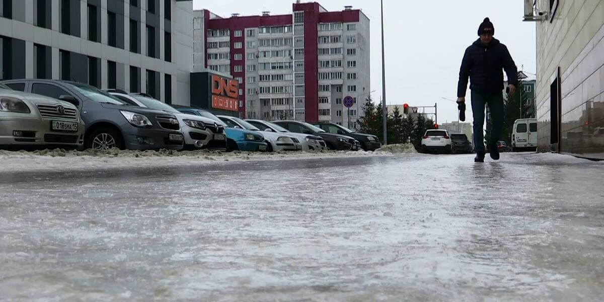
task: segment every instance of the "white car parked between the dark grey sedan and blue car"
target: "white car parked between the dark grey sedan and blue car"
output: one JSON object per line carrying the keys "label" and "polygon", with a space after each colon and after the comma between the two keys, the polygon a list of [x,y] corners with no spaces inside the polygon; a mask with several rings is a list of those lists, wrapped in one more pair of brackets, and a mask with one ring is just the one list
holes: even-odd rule
{"label": "white car parked between the dark grey sedan and blue car", "polygon": [[128,94],[125,91],[109,91],[109,94],[114,95],[132,106],[161,110],[175,115],[181,126],[182,134],[184,135],[184,148],[187,150],[226,150],[226,134],[224,127],[210,118],[193,114],[184,114],[169,104],[165,104],[162,101],[155,100],[155,98],[150,96],[147,97],[143,94]]}

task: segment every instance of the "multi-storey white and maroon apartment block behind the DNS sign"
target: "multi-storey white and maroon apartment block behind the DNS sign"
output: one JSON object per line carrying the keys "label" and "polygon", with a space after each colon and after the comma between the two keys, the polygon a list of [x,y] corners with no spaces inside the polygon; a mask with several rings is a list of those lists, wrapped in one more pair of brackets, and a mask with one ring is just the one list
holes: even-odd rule
{"label": "multi-storey white and maroon apartment block behind the DNS sign", "polygon": [[[291,14],[221,18],[198,10],[193,18],[193,71],[239,80],[242,117],[356,128],[371,91],[370,25],[361,10],[297,1]],[[350,117],[347,95],[358,100]]]}

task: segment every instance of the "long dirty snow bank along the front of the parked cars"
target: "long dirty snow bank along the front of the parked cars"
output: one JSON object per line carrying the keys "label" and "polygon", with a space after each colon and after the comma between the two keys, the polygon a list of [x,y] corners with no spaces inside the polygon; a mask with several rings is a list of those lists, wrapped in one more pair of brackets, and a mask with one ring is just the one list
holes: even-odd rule
{"label": "long dirty snow bank along the front of the parked cars", "polygon": [[[232,161],[273,161],[281,159],[321,159],[364,156],[391,156],[394,152],[313,151],[313,152],[220,152],[210,150],[0,150],[0,172],[121,169],[127,167],[173,167]],[[400,153],[400,152],[397,152]],[[408,152],[409,153],[409,152]]]}

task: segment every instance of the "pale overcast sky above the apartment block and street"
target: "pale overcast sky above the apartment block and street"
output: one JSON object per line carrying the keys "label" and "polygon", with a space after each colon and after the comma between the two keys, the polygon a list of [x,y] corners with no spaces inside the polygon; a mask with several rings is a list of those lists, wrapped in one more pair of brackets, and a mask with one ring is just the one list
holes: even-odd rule
{"label": "pale overcast sky above the apartment block and street", "polygon": [[[258,15],[291,13],[290,0],[193,0],[193,8],[206,8],[222,17],[231,13]],[[303,0],[303,2],[309,2]],[[371,90],[382,95],[380,5],[377,0],[323,0],[329,11],[344,5],[361,8],[371,20]],[[262,3],[262,5],[259,5]],[[371,3],[371,4],[369,4]],[[234,10],[233,7],[236,9]],[[457,79],[461,57],[478,39],[478,25],[488,16],[495,37],[506,44],[521,69],[535,74],[535,23],[522,22],[522,1],[509,0],[384,0],[387,104],[410,106],[439,104],[439,123],[457,120]],[[469,101],[469,93],[468,98]],[[472,120],[468,112],[468,120]]]}

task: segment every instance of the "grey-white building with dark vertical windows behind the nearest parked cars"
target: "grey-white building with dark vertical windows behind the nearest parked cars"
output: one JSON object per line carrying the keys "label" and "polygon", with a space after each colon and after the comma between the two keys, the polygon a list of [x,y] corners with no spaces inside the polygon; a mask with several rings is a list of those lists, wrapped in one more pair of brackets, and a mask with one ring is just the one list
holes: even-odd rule
{"label": "grey-white building with dark vertical windows behind the nearest parked cars", "polygon": [[189,104],[191,0],[0,0],[0,79],[62,79]]}

